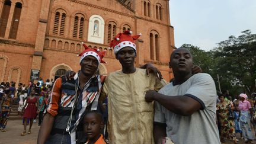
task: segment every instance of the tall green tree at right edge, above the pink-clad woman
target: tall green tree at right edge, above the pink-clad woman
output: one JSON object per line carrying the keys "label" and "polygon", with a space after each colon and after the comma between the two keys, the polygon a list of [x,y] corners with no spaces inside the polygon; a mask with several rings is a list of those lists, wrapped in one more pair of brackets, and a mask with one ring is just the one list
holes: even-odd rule
{"label": "tall green tree at right edge, above the pink-clad woman", "polygon": [[213,53],[223,84],[239,86],[250,95],[255,91],[256,34],[250,30],[241,33],[241,36],[221,41]]}

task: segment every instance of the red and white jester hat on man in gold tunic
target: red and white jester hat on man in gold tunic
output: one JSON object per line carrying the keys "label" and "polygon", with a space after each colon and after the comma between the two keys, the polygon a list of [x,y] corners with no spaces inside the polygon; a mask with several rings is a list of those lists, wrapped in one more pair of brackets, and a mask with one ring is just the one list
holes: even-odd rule
{"label": "red and white jester hat on man in gold tunic", "polygon": [[120,49],[124,47],[132,47],[136,52],[135,40],[137,40],[142,34],[132,36],[132,31],[124,31],[124,33],[117,34],[116,37],[110,42],[109,47],[114,47],[114,54],[116,55]]}

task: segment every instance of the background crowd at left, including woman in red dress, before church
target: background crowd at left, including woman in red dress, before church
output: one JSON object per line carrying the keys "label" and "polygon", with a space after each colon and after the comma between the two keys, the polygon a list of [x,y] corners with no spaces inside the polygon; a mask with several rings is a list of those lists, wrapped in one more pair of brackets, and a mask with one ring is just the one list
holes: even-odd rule
{"label": "background crowd at left, including woman in red dress, before church", "polygon": [[12,105],[18,104],[18,115],[23,117],[24,131],[21,136],[26,135],[26,128],[29,124],[28,134],[31,133],[33,123],[36,123],[39,116],[39,126],[43,120],[43,111],[46,108],[49,92],[53,86],[49,79],[46,82],[40,78],[36,84],[31,80],[28,84],[16,82],[1,82],[0,86],[0,129],[6,132],[9,114],[12,111]]}

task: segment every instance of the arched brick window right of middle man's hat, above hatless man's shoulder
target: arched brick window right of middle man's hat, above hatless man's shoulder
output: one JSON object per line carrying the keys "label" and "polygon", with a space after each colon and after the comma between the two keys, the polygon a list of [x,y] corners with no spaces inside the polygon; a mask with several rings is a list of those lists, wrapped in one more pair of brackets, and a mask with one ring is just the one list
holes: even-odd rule
{"label": "arched brick window right of middle man's hat, above hatless man's shoulder", "polygon": [[159,34],[157,31],[152,30],[149,34],[149,53],[151,60],[160,60],[160,52],[159,52]]}

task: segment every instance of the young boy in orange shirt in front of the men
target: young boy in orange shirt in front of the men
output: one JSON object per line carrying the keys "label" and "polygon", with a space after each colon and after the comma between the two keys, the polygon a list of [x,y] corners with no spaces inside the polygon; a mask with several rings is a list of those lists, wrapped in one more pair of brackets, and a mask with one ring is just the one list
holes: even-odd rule
{"label": "young boy in orange shirt in front of the men", "polygon": [[106,144],[100,130],[103,128],[103,116],[98,111],[89,111],[84,116],[84,135],[87,136],[85,144]]}

